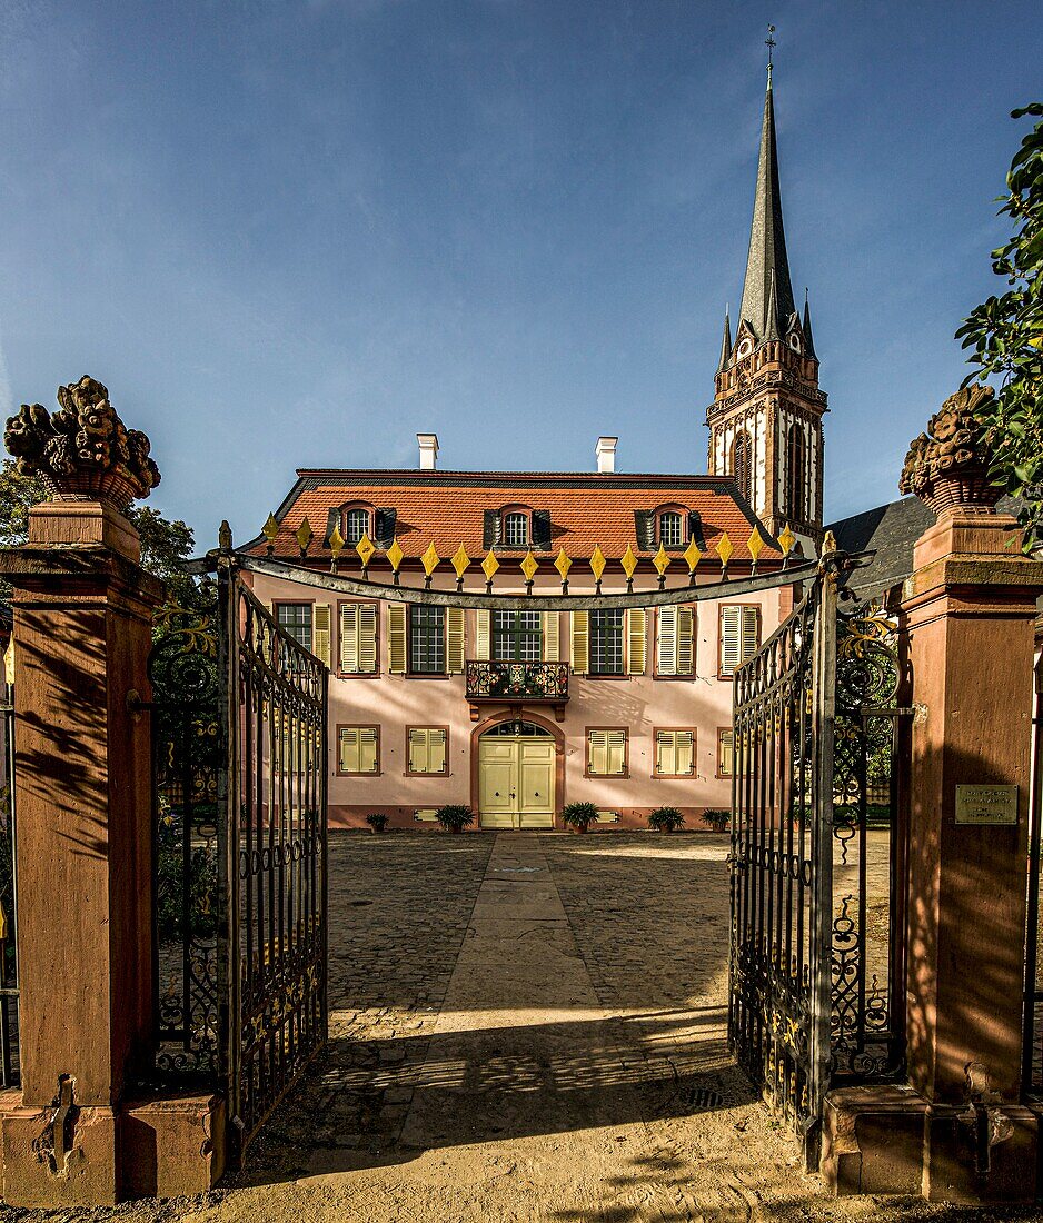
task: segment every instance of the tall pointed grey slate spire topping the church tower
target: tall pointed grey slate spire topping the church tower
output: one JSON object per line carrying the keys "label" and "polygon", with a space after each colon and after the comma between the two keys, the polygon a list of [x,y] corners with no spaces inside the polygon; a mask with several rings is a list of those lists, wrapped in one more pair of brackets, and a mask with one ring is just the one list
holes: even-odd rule
{"label": "tall pointed grey slate spire topping the church tower", "polygon": [[779,158],[775,148],[775,108],[772,97],[772,75],[764,94],[764,121],[761,128],[761,160],[757,166],[757,194],[753,201],[753,225],[750,230],[750,254],[746,280],[742,285],[740,322],[746,319],[758,339],[767,330],[768,300],[772,280],[775,281],[776,325],[785,325],[794,313],[794,290],[790,284],[790,262],[786,258],[786,236],[783,231],[783,201],[779,193]]}

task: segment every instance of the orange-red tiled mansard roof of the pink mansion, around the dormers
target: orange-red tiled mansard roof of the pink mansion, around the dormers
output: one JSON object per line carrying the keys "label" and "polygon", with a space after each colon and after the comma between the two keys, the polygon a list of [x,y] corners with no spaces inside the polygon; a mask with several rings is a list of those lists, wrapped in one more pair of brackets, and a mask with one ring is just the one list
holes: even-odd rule
{"label": "orange-red tiled mansard roof of the pink mansion, around the dormers", "polygon": [[[737,499],[735,484],[726,477],[593,475],[588,472],[448,472],[448,471],[313,471],[297,472],[297,483],[275,512],[279,534],[275,554],[298,556],[296,531],[308,520],[315,538],[309,556],[328,556],[323,541],[329,511],[352,501],[375,509],[394,508],[395,534],[405,556],[418,558],[434,542],[449,559],[462,543],[472,559],[481,559],[485,510],[522,505],[550,514],[551,547],[543,555],[553,556],[564,548],[572,560],[589,558],[595,544],[609,559],[619,559],[627,543],[638,552],[635,527],[636,510],[655,510],[674,505],[697,511],[710,556],[728,532],[734,560],[750,561],[748,539],[756,517]],[[779,550],[762,528],[765,548],[761,564],[778,561]],[[258,536],[246,549],[258,555],[267,541]],[[523,549],[496,549],[504,556],[523,554]],[[351,559],[346,548],[342,560]],[[650,556],[646,550],[641,555]]]}

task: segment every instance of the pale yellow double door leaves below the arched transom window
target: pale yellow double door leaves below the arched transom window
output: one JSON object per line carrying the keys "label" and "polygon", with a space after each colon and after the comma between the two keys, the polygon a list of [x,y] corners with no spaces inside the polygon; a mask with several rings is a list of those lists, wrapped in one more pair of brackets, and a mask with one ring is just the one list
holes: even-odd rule
{"label": "pale yellow double door leaves below the arched transom window", "polygon": [[479,739],[478,802],[483,828],[553,828],[554,741]]}

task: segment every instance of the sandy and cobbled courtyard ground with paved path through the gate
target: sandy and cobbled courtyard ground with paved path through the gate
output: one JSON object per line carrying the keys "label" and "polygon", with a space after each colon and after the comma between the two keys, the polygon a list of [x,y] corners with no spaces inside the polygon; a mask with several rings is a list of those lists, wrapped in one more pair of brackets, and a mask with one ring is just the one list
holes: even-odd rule
{"label": "sandy and cobbled courtyard ground with paved path through the gate", "polygon": [[205,1199],[0,1218],[1039,1218],[834,1201],[801,1172],[725,1047],[725,851],[703,835],[341,838],[330,1049],[245,1172]]}

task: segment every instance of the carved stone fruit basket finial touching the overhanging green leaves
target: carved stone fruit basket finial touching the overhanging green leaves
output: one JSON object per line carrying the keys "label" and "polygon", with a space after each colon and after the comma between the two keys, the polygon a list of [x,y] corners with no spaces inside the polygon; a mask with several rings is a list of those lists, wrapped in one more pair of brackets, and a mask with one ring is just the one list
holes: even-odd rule
{"label": "carved stone fruit basket finial touching the overhanging green leaves", "polygon": [[981,406],[992,386],[957,390],[931,417],[927,432],[913,438],[905,457],[899,492],[915,493],[937,515],[959,506],[990,510],[1003,495],[992,483],[992,455],[981,440]]}

